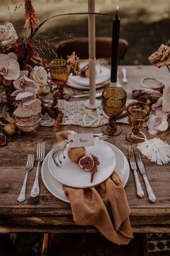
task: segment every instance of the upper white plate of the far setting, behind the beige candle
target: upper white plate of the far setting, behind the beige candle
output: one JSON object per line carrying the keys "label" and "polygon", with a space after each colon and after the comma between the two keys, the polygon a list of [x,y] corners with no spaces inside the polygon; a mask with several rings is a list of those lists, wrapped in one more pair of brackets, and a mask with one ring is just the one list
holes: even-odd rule
{"label": "upper white plate of the far setting, behind the beige candle", "polygon": [[[85,67],[88,62],[83,62],[80,64],[80,67]],[[102,66],[100,64],[96,65],[96,85],[102,84],[102,82],[105,82],[109,80],[110,77],[110,69],[108,67]],[[81,77],[81,76],[73,76],[72,74],[68,77],[68,83],[70,84],[76,84],[81,86],[89,86],[89,77]]]}

